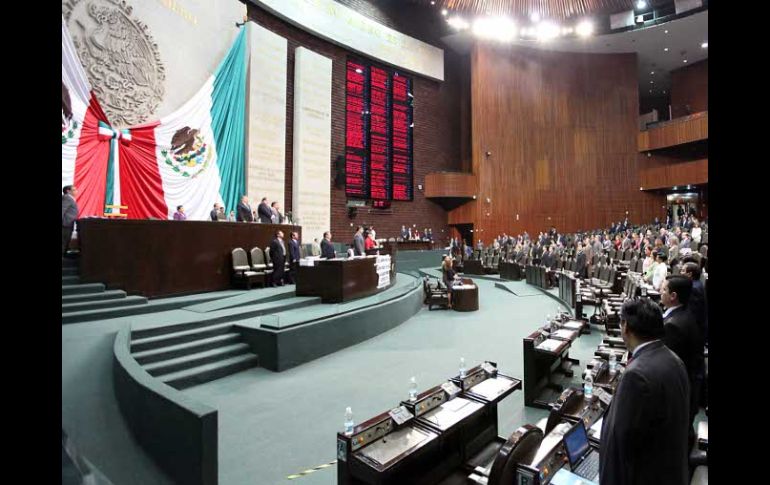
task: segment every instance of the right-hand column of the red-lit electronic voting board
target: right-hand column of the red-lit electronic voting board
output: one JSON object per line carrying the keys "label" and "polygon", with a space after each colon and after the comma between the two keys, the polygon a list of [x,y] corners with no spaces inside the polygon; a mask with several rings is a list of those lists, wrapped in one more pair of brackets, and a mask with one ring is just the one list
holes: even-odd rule
{"label": "right-hand column of the red-lit electronic voting board", "polygon": [[392,182],[393,200],[412,200],[411,80],[393,74]]}

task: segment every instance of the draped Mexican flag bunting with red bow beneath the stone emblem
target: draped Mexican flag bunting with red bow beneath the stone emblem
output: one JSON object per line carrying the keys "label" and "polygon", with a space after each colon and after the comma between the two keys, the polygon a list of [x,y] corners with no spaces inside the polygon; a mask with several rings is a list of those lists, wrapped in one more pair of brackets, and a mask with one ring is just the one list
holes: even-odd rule
{"label": "draped Mexican flag bunting with red bow beneath the stone emblem", "polygon": [[62,19],[62,186],[79,188],[81,217],[101,216],[108,205],[126,206],[121,212],[131,219],[169,219],[179,205],[192,220],[209,219],[215,202],[235,209],[245,192],[247,46],[242,27],[192,99],[159,121],[118,129],[94,97]]}

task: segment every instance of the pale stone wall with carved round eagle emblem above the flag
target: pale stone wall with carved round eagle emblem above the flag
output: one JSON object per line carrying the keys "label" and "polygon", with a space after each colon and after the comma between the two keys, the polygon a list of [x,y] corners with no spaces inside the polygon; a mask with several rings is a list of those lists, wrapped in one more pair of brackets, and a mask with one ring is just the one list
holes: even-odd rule
{"label": "pale stone wall with carved round eagle emblem above the flag", "polygon": [[97,99],[117,128],[173,113],[232,45],[238,0],[62,0]]}

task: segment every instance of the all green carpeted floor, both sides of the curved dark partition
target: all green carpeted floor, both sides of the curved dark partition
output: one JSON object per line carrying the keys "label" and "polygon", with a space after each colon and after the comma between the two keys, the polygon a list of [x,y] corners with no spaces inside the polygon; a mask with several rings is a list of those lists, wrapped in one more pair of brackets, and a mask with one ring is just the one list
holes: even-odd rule
{"label": "all green carpeted floor, both sides of the curved dark partition", "polygon": [[[555,312],[557,302],[545,294],[519,297],[495,288],[493,281],[476,281],[477,312],[426,307],[385,334],[289,371],[255,368],[184,391],[219,410],[220,483],[336,483],[334,466],[291,481],[287,476],[335,459],[346,406],[353,408],[356,422],[370,418],[407,397],[411,376],[420,390],[440,384],[457,372],[460,357],[469,367],[496,361],[501,372],[523,378],[522,338]],[[62,427],[116,484],[170,481],[134,442],[117,407],[115,334],[129,323],[155,326],[189,315],[174,310],[62,326]],[[584,366],[600,341],[598,331],[580,337],[571,356]],[[578,383],[580,372],[575,374]],[[506,436],[546,415],[525,408],[521,391],[498,409],[500,433]]]}

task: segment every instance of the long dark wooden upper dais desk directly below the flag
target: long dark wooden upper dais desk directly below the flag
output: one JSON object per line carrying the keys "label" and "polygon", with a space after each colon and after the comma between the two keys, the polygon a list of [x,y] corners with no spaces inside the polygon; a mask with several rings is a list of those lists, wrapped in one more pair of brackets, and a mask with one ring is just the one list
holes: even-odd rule
{"label": "long dark wooden upper dais desk directly below the flag", "polygon": [[232,250],[270,246],[286,224],[79,219],[80,278],[149,298],[227,290]]}

